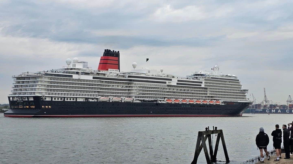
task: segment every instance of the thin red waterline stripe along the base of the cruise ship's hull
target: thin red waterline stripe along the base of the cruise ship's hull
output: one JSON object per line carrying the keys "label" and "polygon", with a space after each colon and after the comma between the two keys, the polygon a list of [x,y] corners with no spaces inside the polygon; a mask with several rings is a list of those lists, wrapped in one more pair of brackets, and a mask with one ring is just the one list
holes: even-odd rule
{"label": "thin red waterline stripe along the base of the cruise ship's hull", "polygon": [[239,115],[4,115],[5,117],[238,117]]}

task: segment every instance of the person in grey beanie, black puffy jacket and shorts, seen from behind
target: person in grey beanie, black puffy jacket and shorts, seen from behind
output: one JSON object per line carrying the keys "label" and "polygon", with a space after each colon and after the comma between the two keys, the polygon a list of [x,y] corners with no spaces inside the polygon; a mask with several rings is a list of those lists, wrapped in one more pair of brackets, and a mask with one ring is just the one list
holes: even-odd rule
{"label": "person in grey beanie, black puffy jacket and shorts, seen from behind", "polygon": [[261,153],[261,161],[260,162],[262,162],[262,163],[264,162],[264,154],[263,154],[262,149],[264,149],[264,152],[266,153],[266,155],[268,157],[267,160],[270,160],[269,153],[267,152],[267,145],[269,144],[270,139],[269,139],[269,136],[264,133],[263,127],[259,128],[259,133],[255,138],[255,142],[256,142],[256,145],[259,148],[259,151]]}

